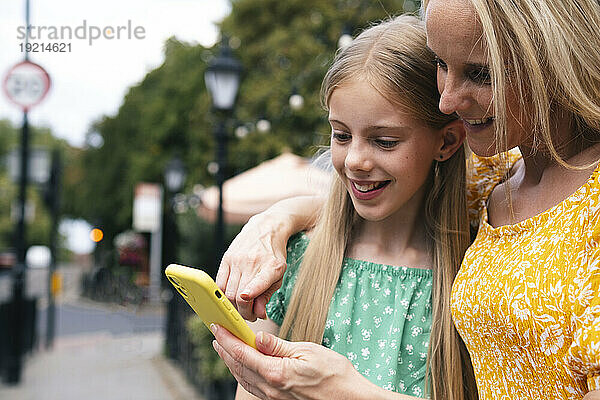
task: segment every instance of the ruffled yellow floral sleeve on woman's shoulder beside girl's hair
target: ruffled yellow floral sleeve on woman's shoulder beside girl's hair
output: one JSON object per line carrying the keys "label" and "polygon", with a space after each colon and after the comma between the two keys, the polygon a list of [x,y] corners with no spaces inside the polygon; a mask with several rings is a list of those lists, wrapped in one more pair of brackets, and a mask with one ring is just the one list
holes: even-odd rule
{"label": "ruffled yellow floral sleeve on woman's shoulder beside girl's hair", "polygon": [[479,224],[481,210],[494,187],[511,175],[513,167],[521,158],[518,148],[492,157],[480,157],[471,153],[467,160],[467,205],[473,227]]}

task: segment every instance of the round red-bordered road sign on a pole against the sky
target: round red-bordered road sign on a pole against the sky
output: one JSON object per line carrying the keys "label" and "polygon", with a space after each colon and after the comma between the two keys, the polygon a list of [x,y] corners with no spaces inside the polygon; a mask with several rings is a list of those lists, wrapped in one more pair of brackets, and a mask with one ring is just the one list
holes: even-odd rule
{"label": "round red-bordered road sign on a pole against the sky", "polygon": [[23,61],[8,71],[3,88],[13,103],[27,111],[41,102],[48,93],[50,76],[39,65]]}

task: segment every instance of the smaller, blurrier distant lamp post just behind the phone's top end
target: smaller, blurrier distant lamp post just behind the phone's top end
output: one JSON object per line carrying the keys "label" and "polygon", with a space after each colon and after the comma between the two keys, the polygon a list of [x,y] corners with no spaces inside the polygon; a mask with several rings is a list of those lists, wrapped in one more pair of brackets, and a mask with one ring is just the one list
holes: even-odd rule
{"label": "smaller, blurrier distant lamp post just behind the phone's top end", "polygon": [[[175,224],[172,209],[173,195],[181,190],[185,182],[185,167],[183,162],[178,157],[174,157],[167,163],[164,171],[165,187],[167,188],[167,207],[165,208],[164,221],[165,221],[165,251],[167,262],[172,262],[172,258],[168,254],[175,251],[176,243],[178,242],[177,225]],[[165,265],[165,262],[163,262]],[[167,353],[172,359],[176,359],[179,355],[177,351],[179,348],[179,333],[183,329],[183,321],[181,318],[181,303],[182,299],[175,293],[173,286],[168,285],[171,290],[171,297],[167,304],[167,320],[166,320],[166,342],[167,342]]]}

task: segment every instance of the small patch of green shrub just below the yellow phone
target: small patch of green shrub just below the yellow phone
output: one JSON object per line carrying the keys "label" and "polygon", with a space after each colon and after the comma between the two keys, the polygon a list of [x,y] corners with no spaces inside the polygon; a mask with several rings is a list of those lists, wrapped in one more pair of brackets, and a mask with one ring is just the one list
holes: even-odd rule
{"label": "small patch of green shrub just below the yellow phone", "polygon": [[193,346],[193,360],[196,362],[200,382],[231,380],[233,377],[227,366],[212,347],[213,336],[197,315],[186,323],[190,343]]}

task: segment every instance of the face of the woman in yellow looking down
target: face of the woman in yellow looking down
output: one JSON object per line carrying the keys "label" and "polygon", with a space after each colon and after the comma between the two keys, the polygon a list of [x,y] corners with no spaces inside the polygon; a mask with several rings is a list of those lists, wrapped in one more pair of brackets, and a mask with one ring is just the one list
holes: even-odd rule
{"label": "face of the woman in yellow looking down", "polygon": [[[495,116],[487,48],[472,5],[468,0],[431,0],[425,23],[427,45],[438,58],[440,110],[446,114],[456,112],[462,119],[475,154],[494,155]],[[505,92],[510,149],[524,144],[529,129],[511,85]]]}

